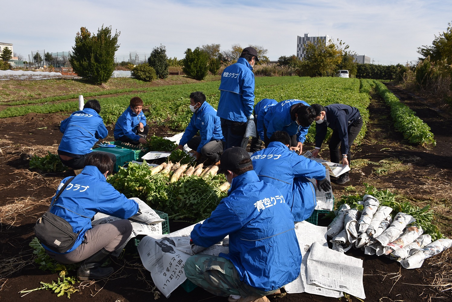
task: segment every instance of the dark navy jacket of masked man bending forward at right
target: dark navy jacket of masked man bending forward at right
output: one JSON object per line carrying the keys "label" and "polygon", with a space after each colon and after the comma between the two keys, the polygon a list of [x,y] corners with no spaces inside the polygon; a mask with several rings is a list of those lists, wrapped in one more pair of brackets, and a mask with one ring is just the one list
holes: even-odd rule
{"label": "dark navy jacket of masked man bending forward at right", "polygon": [[318,148],[322,146],[328,127],[338,132],[341,153],[347,154],[350,150],[350,146],[348,146],[348,125],[361,114],[358,108],[344,104],[331,104],[324,108],[326,120],[323,123],[315,124],[315,146]]}

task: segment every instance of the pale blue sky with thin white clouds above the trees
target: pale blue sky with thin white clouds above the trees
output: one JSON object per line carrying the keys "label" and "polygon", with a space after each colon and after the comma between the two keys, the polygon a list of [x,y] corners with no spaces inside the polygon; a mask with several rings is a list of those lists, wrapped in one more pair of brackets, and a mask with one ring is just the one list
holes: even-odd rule
{"label": "pale blue sky with thin white clouds above the trees", "polygon": [[121,32],[117,54],[125,57],[149,55],[160,43],[179,59],[188,47],[239,43],[262,45],[277,60],[295,54],[297,35],[309,33],[339,38],[376,64],[395,64],[416,61],[417,47],[452,22],[449,0],[17,0],[10,8],[0,42],[13,43],[25,59],[36,50],[71,50],[81,26],[95,33],[104,24]]}

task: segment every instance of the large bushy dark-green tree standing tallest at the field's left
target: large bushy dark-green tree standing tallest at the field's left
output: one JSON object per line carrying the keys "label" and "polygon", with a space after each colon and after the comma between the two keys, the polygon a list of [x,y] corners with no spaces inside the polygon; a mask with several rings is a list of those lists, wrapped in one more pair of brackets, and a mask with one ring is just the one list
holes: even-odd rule
{"label": "large bushy dark-green tree standing tallest at the field's left", "polygon": [[94,84],[107,82],[115,67],[114,54],[118,50],[118,37],[116,31],[112,36],[112,28],[102,25],[97,35],[91,36],[88,29],[80,28],[75,36],[75,45],[69,58],[75,73]]}

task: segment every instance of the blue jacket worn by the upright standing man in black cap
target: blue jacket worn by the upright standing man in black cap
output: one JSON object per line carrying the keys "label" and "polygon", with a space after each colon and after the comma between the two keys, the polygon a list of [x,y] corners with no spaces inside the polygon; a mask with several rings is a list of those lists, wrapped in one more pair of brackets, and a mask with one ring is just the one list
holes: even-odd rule
{"label": "blue jacket worn by the upright standing man in black cap", "polygon": [[218,88],[220,101],[217,115],[231,121],[245,123],[253,113],[254,73],[253,67],[245,58],[227,66],[221,74]]}

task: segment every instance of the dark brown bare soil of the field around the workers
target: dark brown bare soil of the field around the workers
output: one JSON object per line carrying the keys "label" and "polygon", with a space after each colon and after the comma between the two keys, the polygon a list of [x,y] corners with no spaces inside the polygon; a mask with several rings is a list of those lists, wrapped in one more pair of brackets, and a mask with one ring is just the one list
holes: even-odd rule
{"label": "dark brown bare soil of the field around the workers", "polygon": [[[392,89],[392,87],[389,87]],[[410,170],[405,172],[392,171],[387,175],[377,175],[374,167],[368,164],[360,169],[353,169],[350,173],[351,181],[345,185],[334,184],[336,199],[345,192],[344,187],[352,185],[354,190],[361,193],[363,183],[369,183],[378,189],[391,189],[404,194],[414,203],[430,204],[435,210],[436,221],[441,231],[448,237],[452,235],[452,200],[449,192],[452,183],[452,139],[449,129],[452,121],[447,118],[449,113],[435,111],[428,108],[422,99],[415,99],[403,91],[396,94],[412,108],[431,128],[437,140],[437,146],[422,148],[410,145],[403,140],[403,136],[393,129],[389,109],[377,96],[373,96],[370,105],[370,123],[365,141],[354,148],[353,160],[366,159],[378,162],[387,158],[397,158]],[[47,150],[56,151],[60,142],[61,133],[58,123],[65,118],[61,114],[28,114],[21,118],[0,119],[0,207],[19,200],[18,198],[31,198],[30,204],[35,206],[19,213],[14,217],[2,220],[0,228],[0,265],[5,259],[19,257],[25,266],[9,274],[0,267],[0,300],[1,301],[62,301],[66,298],[56,297],[50,291],[36,291],[25,297],[18,292],[28,288],[38,288],[39,282],[51,282],[57,279],[57,274],[43,272],[33,264],[31,249],[28,243],[33,238],[33,225],[39,214],[47,209],[48,198],[55,192],[58,180],[73,174],[72,171],[59,174],[33,173],[28,171],[27,152],[45,154]],[[45,128],[47,127],[47,128]],[[41,128],[41,129],[38,129]],[[165,127],[152,127],[151,133],[167,134],[170,129]],[[306,144],[305,148],[311,148]],[[325,152],[325,151],[324,151]],[[328,152],[324,154],[328,158]],[[37,171],[35,171],[37,172]],[[353,191],[352,191],[353,192]],[[438,193],[439,192],[439,193]],[[35,199],[33,199],[35,198]],[[39,201],[41,201],[39,203]],[[0,217],[5,214],[0,212]],[[320,224],[328,225],[329,221],[321,219]],[[170,221],[170,230],[175,231],[189,225],[189,222]],[[114,259],[113,267],[117,273],[108,281],[99,281],[81,292],[71,295],[73,301],[98,302],[135,302],[154,299],[148,284],[151,276],[141,266],[140,259],[133,245],[127,245],[126,255],[123,259]],[[364,260],[364,289],[366,300],[371,302],[390,301],[452,301],[451,291],[439,292],[431,284],[435,274],[447,269],[451,270],[452,252],[443,254],[445,261],[441,265],[438,257],[426,260],[420,269],[400,269],[397,262],[384,257],[364,256],[360,250],[351,250],[347,253]],[[3,263],[4,266],[7,264]],[[19,265],[19,264],[16,264]],[[399,274],[400,272],[400,274]],[[142,274],[145,280],[142,278]],[[101,289],[102,288],[102,289]],[[101,289],[101,290],[100,290]],[[94,296],[94,297],[93,297]],[[226,298],[214,297],[210,293],[196,288],[186,293],[178,288],[170,298],[160,297],[160,301],[227,301]],[[289,294],[283,298],[272,298],[272,301],[336,301],[334,298],[321,297],[306,293]],[[358,301],[345,297],[342,301]]]}

